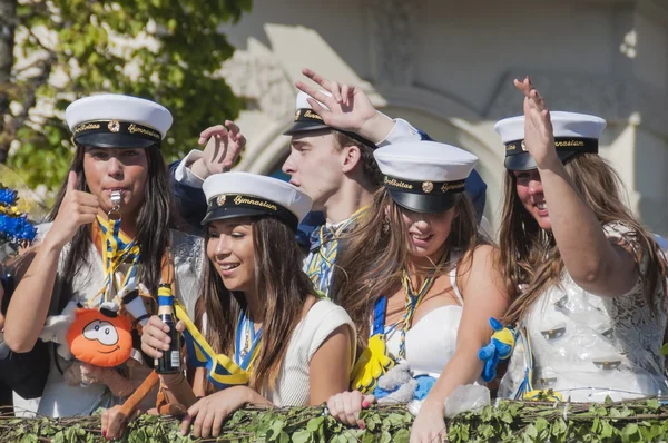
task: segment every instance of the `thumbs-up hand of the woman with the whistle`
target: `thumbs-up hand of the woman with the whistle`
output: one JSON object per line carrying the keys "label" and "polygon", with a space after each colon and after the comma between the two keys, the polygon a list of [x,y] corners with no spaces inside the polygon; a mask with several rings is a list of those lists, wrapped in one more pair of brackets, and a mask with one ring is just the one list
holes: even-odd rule
{"label": "thumbs-up hand of the woman with the whistle", "polygon": [[96,196],[77,190],[77,173],[70,171],[67,177],[65,198],[45,243],[62,248],[72,239],[81,225],[95,222],[99,206]]}

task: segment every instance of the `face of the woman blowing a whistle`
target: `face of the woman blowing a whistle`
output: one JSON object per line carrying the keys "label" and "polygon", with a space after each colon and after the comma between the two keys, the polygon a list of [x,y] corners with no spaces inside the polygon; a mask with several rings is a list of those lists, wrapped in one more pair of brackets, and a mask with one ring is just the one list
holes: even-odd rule
{"label": "face of the woman blowing a whistle", "polygon": [[98,197],[100,209],[105,214],[114,207],[111,193],[119,190],[122,195],[121,214],[136,215],[144,203],[148,179],[146,149],[87,146],[84,174],[90,193]]}

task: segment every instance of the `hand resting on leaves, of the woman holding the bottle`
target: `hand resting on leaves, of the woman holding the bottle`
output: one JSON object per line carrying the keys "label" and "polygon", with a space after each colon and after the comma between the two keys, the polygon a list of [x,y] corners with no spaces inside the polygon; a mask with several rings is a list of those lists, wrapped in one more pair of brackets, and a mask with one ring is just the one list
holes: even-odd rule
{"label": "hand resting on leaves, of the woman holding the bottle", "polygon": [[188,408],[181,421],[181,434],[186,435],[193,423],[191,434],[199,439],[218,436],[223,421],[236,410],[248,403],[250,395],[248,386],[232,386],[200,398]]}

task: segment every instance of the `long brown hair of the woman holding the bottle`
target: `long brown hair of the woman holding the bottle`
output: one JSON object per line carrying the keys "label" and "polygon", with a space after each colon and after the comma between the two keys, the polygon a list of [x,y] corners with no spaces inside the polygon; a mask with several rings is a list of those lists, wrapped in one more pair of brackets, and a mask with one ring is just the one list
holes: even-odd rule
{"label": "long brown hair of the woman holding the bottle", "polygon": [[[295,233],[275,217],[252,219],[255,254],[255,288],[263,296],[263,325],[259,353],[253,364],[250,386],[273,388],[287,352],[289,337],[302,318],[304,304],[315,294],[313,284],[299,269],[302,252]],[[206,243],[209,240],[208,230]],[[196,307],[195,324],[202,328],[207,316],[206,339],[216,353],[233,355],[238,315],[246,302],[242,293],[232,293],[206,259],[205,283]],[[206,392],[213,386],[207,383]]]}

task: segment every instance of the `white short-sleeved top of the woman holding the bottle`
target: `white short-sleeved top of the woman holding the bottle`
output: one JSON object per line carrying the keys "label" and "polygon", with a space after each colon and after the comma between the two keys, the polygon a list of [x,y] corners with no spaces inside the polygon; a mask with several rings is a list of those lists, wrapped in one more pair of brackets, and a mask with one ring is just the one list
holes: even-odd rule
{"label": "white short-sleeved top of the woman holding the bottle", "polygon": [[[355,325],[345,309],[327,299],[316,302],[297,324],[273,391],[261,394],[275,406],[306,406],[310,397],[310,365],[313,354],[340,326],[348,325],[352,332],[352,354],[355,355]],[[351,366],[352,367],[352,366]]]}

